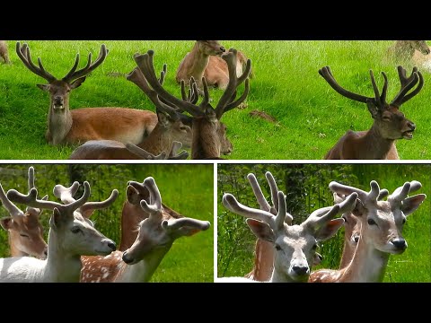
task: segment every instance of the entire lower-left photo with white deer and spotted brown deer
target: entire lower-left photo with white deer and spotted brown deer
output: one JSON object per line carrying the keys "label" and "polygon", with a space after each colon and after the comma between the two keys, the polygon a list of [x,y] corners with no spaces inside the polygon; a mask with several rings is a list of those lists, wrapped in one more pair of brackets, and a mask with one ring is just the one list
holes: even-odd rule
{"label": "entire lower-left photo with white deer and spotted brown deer", "polygon": [[212,164],[0,164],[0,282],[213,282]]}

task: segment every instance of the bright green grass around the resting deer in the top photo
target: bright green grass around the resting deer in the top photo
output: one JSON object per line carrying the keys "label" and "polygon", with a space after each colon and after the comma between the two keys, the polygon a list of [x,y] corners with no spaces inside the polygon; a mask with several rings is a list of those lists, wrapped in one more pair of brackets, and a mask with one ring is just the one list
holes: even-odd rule
{"label": "bright green grass around the resting deer in the top photo", "polygon": [[[133,54],[155,51],[155,68],[168,64],[165,87],[180,95],[175,71],[193,41],[36,41],[28,42],[33,60],[42,58],[44,66],[57,78],[73,65],[75,55],[97,56],[101,43],[110,49],[106,61],[70,96],[71,109],[85,107],[128,107],[149,109],[154,106],[135,84],[125,77],[136,65]],[[386,58],[393,41],[221,41],[226,48],[242,50],[251,58],[254,78],[247,109],[234,109],[222,121],[234,145],[229,159],[322,159],[348,129],[366,130],[372,118],[365,104],[348,100],[334,92],[318,74],[330,65],[339,83],[352,92],[373,96],[369,69],[383,84],[381,71],[388,74],[388,100],[400,89],[397,62]],[[32,74],[14,52],[15,40],[8,41],[12,65],[0,65],[0,159],[66,159],[73,147],[51,147],[44,134],[47,127],[48,93],[36,83],[45,80]],[[411,66],[405,65],[406,68]],[[401,110],[417,125],[413,140],[397,144],[400,158],[431,159],[427,133],[431,132],[430,75],[424,72],[425,86]],[[240,91],[242,92],[242,90]],[[212,90],[217,100],[221,91]],[[265,111],[277,123],[252,118],[251,110]]]}

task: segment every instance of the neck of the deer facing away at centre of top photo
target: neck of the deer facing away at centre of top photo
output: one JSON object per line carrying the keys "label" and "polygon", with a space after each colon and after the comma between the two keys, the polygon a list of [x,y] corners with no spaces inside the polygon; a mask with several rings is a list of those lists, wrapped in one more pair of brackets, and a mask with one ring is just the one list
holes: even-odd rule
{"label": "neck of the deer facing away at centre of top photo", "polygon": [[220,157],[221,144],[216,131],[217,122],[217,119],[193,118],[192,159]]}

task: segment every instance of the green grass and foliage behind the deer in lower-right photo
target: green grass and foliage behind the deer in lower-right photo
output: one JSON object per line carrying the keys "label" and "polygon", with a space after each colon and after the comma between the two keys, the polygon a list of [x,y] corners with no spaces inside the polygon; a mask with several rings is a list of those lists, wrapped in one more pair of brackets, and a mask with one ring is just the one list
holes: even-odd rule
{"label": "green grass and foliage behind the deer in lower-right photo", "polygon": [[[279,170],[279,165],[233,165],[220,164],[218,175],[218,276],[243,276],[251,271],[254,262],[255,236],[245,223],[242,216],[228,212],[221,204],[224,193],[232,193],[240,202],[251,207],[259,207],[251,193],[251,187],[246,179],[249,172],[258,177],[259,183],[268,196],[268,188],[264,180],[264,171],[270,170],[277,179],[278,189],[292,194],[293,188],[285,188],[286,179]],[[289,168],[289,165],[286,165]],[[324,170],[324,171],[322,171]],[[285,171],[285,170],[283,170]],[[423,188],[418,193],[427,194],[427,199],[418,210],[410,214],[404,225],[403,236],[408,241],[409,248],[401,255],[392,255],[384,275],[383,282],[431,282],[431,249],[430,231],[430,171],[427,164],[353,164],[353,165],[315,165],[303,168],[303,205],[305,214],[313,210],[330,205],[331,199],[328,184],[330,180],[338,180],[369,191],[369,182],[377,180],[381,188],[388,188],[392,192],[405,181],[416,179]],[[223,174],[222,176],[220,174]],[[276,175],[277,174],[277,175]],[[321,175],[323,174],[323,175]],[[325,175],[326,174],[326,175]],[[344,180],[343,180],[344,179]],[[348,180],[347,180],[348,179]],[[312,181],[313,187],[310,186]],[[415,194],[418,194],[415,193]],[[326,202],[325,202],[326,201]],[[294,214],[294,222],[301,223],[303,218],[288,207],[288,212]],[[319,252],[323,261],[317,268],[338,268],[344,240],[343,229],[325,242],[321,242]]]}

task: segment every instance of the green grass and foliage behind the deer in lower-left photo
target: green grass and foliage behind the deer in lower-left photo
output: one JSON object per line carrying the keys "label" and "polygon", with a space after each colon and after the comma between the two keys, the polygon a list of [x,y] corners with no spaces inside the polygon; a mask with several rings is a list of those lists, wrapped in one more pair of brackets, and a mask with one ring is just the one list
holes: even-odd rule
{"label": "green grass and foliage behind the deer in lower-left photo", "polygon": [[[40,194],[48,194],[50,200],[52,188],[57,183],[69,185],[67,165],[33,164],[36,174],[36,187]],[[16,188],[27,192],[26,173],[29,165],[0,164],[1,183],[4,190]],[[92,221],[95,227],[115,240],[119,246],[120,217],[125,201],[128,180],[142,182],[153,176],[163,203],[180,214],[207,220],[213,223],[213,165],[199,164],[141,164],[141,165],[82,165],[85,179],[90,182],[91,201],[100,201],[110,195],[113,188],[119,189],[119,197],[113,205],[103,211],[95,211]],[[184,179],[187,178],[187,182]],[[23,207],[22,207],[23,209]],[[41,215],[45,235],[48,238],[48,218],[51,212]],[[8,216],[0,206],[0,217]],[[154,273],[153,282],[212,282],[213,281],[213,226],[207,231],[198,232],[192,237],[176,240],[172,249],[163,258]],[[7,232],[0,230],[0,257],[8,257]]]}

